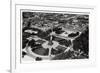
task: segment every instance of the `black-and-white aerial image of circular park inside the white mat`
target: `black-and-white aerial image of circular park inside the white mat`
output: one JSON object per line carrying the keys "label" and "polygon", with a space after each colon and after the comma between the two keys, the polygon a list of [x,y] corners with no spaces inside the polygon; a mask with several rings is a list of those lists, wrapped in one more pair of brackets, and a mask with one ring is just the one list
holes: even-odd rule
{"label": "black-and-white aerial image of circular park inside the white mat", "polygon": [[21,12],[21,60],[89,59],[89,15]]}

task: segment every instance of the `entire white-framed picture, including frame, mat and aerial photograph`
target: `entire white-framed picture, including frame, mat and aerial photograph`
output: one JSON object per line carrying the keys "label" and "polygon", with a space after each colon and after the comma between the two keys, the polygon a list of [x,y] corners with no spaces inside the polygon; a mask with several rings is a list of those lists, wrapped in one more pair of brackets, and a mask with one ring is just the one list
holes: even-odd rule
{"label": "entire white-framed picture, including frame, mat and aerial photograph", "polygon": [[11,73],[83,72],[95,66],[95,7],[16,1],[11,5]]}

